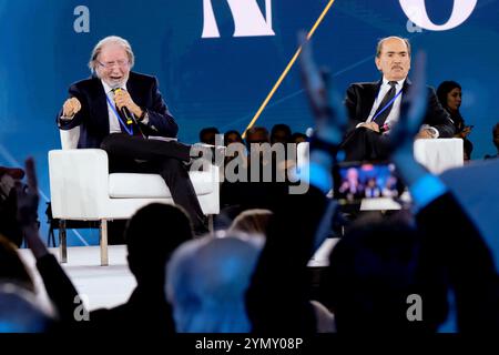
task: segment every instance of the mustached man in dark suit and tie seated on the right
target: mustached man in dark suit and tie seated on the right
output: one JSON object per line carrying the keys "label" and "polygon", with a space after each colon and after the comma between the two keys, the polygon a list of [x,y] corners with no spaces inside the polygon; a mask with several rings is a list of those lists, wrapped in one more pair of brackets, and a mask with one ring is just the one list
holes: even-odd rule
{"label": "mustached man in dark suit and tie seated on the right", "polygon": [[[346,161],[385,160],[388,158],[390,128],[398,121],[404,97],[411,83],[410,43],[388,37],[378,42],[376,67],[383,73],[378,82],[352,84],[345,105],[349,116],[348,132],[342,144]],[[454,126],[441,108],[435,90],[428,88],[428,106],[418,139],[451,138]]]}

